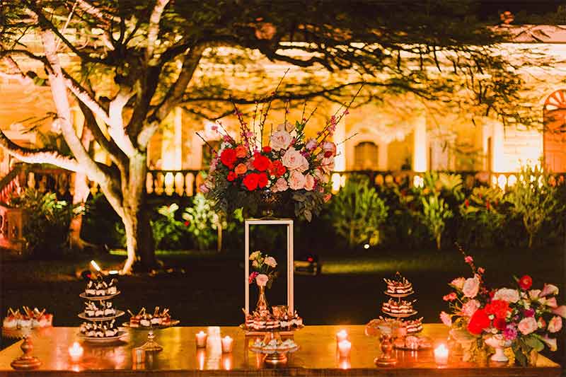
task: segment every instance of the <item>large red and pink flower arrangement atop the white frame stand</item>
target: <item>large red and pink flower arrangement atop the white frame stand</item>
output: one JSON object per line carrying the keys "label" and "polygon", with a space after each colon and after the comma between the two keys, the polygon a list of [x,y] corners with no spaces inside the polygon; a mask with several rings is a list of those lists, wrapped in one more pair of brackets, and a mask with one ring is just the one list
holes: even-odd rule
{"label": "large red and pink flower arrangement atop the white frame stand", "polygon": [[[285,196],[289,198],[285,201],[294,202],[296,216],[311,221],[331,197],[330,173],[336,156],[333,134],[353,99],[345,110],[340,109],[330,117],[316,137],[308,138],[305,128],[314,111],[306,117],[306,103],[301,119],[295,122],[287,120],[286,103],[284,122],[267,132],[267,114],[276,92],[277,88],[259,112],[258,104],[255,105],[250,123],[234,105],[240,123],[238,139],[221,122],[214,127],[222,142],[218,150],[210,146],[213,158],[200,190],[224,214],[238,208],[253,212],[265,201],[265,195]],[[277,205],[282,207],[281,203]]]}

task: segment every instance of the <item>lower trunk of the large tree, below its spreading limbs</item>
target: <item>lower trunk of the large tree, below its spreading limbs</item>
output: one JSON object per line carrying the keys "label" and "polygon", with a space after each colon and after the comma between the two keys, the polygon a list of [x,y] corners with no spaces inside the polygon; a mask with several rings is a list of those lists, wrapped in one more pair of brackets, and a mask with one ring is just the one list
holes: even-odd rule
{"label": "lower trunk of the large tree, below its spreading limbs", "polygon": [[122,273],[131,272],[139,257],[139,265],[144,271],[158,267],[155,257],[155,243],[149,210],[145,203],[146,153],[137,152],[129,161],[129,177],[122,183],[124,201],[124,226],[126,229],[127,260]]}

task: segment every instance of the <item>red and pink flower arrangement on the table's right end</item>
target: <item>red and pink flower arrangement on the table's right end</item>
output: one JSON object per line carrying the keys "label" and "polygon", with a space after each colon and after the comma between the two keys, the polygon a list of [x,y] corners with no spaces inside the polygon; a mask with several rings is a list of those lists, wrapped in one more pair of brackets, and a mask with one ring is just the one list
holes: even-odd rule
{"label": "red and pink flower arrangement on the table's right end", "polygon": [[492,347],[511,347],[522,366],[534,364],[545,347],[558,349],[556,335],[566,318],[566,306],[558,306],[557,286],[532,289],[533,279],[524,275],[514,278],[514,288],[489,290],[483,282],[484,269],[476,268],[469,255],[465,260],[474,276],[458,277],[449,284],[454,291],[444,301],[449,302],[451,313],[440,313],[444,325],[452,329],[451,336],[463,345],[465,361],[487,352],[486,342]]}

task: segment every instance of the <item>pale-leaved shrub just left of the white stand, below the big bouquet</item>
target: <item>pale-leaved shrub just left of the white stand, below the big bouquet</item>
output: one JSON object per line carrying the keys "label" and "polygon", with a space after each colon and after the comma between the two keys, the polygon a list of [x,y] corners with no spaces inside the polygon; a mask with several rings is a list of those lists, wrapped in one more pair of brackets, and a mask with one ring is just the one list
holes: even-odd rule
{"label": "pale-leaved shrub just left of the white stand, below the big bouquet", "polygon": [[[197,248],[199,250],[211,248],[217,239],[220,221],[218,214],[214,212],[212,202],[200,193],[195,195],[192,207],[185,209],[183,219],[188,223],[186,228],[195,240]],[[226,228],[226,221],[223,221],[221,226]]]}

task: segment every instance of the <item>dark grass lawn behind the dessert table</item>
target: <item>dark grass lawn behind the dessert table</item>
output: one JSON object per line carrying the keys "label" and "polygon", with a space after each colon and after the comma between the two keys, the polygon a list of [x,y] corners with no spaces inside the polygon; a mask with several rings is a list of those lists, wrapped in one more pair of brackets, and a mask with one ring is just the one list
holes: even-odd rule
{"label": "dark grass lawn behind the dessert table", "polygon": [[[533,250],[470,251],[476,265],[486,269],[490,286],[512,284],[512,275],[531,274],[536,286],[553,282],[566,289],[562,246]],[[240,253],[226,255],[197,252],[161,252],[158,257],[184,274],[165,277],[120,277],[122,294],[115,299],[121,309],[171,308],[182,325],[237,325],[244,301]],[[125,259],[117,252],[96,257],[105,269],[119,267]],[[79,294],[84,282],[76,272],[88,266],[88,258],[73,261],[1,261],[0,311],[8,307],[37,306],[54,313],[54,324],[79,325],[76,314],[83,309]],[[367,323],[380,315],[383,277],[400,271],[415,286],[415,308],[425,322],[439,322],[446,309],[442,296],[446,285],[470,271],[456,250],[367,250],[357,253],[320,255],[322,274],[295,276],[295,306],[306,324]],[[252,287],[253,290],[254,287]],[[564,303],[564,289],[560,302]],[[267,292],[271,304],[282,303],[284,279]],[[127,316],[125,318],[127,320]],[[564,349],[565,347],[563,347]]]}

